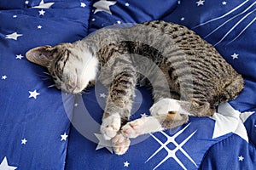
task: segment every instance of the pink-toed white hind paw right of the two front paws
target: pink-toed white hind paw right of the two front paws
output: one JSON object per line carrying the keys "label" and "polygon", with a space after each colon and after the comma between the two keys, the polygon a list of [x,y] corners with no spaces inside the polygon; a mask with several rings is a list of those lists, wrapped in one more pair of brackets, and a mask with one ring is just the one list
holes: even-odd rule
{"label": "pink-toed white hind paw right of the two front paws", "polygon": [[126,138],[136,138],[137,136],[143,134],[143,124],[145,122],[145,119],[137,119],[132,122],[128,122],[125,124],[124,127],[122,127],[121,133]]}

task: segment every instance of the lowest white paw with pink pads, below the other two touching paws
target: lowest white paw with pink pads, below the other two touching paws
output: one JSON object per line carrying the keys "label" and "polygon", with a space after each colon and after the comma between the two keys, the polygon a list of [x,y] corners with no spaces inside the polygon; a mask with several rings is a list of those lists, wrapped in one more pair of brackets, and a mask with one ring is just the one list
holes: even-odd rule
{"label": "lowest white paw with pink pads, below the other two touching paws", "polygon": [[113,151],[117,155],[123,155],[131,144],[130,139],[125,138],[123,134],[118,134],[112,139]]}

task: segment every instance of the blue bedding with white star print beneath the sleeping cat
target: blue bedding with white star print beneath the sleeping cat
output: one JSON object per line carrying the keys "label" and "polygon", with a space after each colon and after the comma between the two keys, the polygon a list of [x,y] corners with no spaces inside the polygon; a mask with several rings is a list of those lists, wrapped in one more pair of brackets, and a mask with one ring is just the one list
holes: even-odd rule
{"label": "blue bedding with white star print beneath the sleeping cat", "polygon": [[[0,170],[255,169],[256,12],[251,0],[3,0],[0,2]],[[218,49],[245,79],[212,117],[131,140],[116,156],[102,139],[107,89],[83,95],[52,87],[25,58],[42,45],[74,42],[105,26],[166,20],[187,26]],[[138,87],[131,119],[149,114]]]}

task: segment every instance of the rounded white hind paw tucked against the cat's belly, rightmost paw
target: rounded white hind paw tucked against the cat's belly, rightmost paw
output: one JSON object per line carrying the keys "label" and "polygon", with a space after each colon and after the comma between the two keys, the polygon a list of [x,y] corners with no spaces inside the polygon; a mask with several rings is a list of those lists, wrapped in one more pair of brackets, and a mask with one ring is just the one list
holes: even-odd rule
{"label": "rounded white hind paw tucked against the cat's belly, rightmost paw", "polygon": [[150,113],[152,116],[166,115],[169,111],[181,111],[181,106],[177,103],[176,99],[161,99],[156,102],[151,108]]}

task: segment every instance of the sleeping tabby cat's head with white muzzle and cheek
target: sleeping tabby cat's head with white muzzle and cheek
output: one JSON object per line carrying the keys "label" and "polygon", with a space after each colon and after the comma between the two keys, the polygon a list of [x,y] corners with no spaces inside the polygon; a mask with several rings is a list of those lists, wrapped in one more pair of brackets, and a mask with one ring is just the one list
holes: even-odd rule
{"label": "sleeping tabby cat's head with white muzzle and cheek", "polygon": [[89,48],[73,43],[32,48],[26,59],[46,67],[55,87],[66,93],[79,94],[96,78],[98,59]]}

